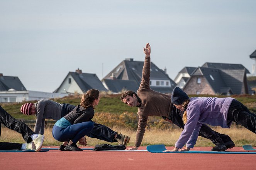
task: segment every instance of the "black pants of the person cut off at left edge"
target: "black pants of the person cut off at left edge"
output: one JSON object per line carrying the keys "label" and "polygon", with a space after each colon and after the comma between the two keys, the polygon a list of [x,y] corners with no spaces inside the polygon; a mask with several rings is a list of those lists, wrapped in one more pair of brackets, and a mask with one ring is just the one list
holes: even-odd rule
{"label": "black pants of the person cut off at left edge", "polygon": [[[25,142],[32,142],[30,136],[33,135],[34,132],[25,123],[16,120],[0,106],[0,137],[2,124],[5,125],[5,127],[20,133]],[[0,150],[20,149],[22,144],[19,144],[20,143],[0,142]]]}

